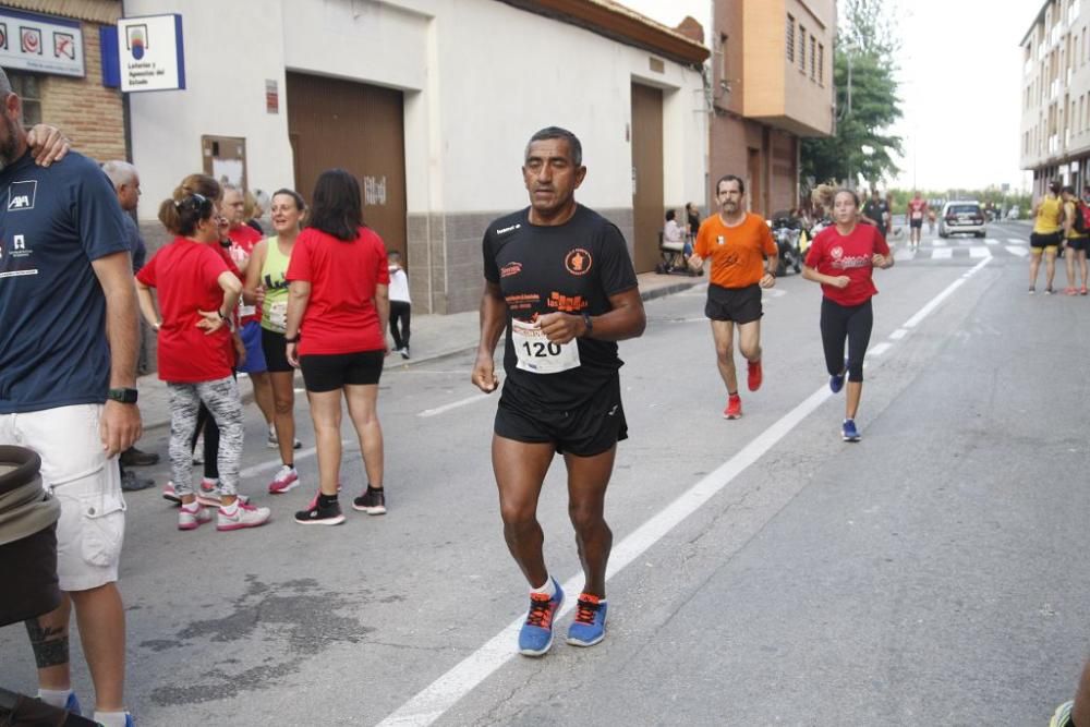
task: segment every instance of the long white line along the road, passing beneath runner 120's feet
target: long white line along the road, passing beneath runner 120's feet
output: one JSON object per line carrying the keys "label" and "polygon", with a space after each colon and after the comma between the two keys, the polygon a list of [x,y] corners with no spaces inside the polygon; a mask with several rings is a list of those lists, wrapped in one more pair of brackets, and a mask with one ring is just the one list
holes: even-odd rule
{"label": "long white line along the road, passing beneath runner 120's feet", "polygon": [[[906,328],[911,328],[927,318],[940,303],[946,300],[955,290],[961,287],[973,274],[988,265],[991,258],[978,263],[968,272],[950,283],[945,290],[929,301]],[[875,347],[877,348],[877,347]],[[800,422],[813,413],[832,396],[827,386],[811,393],[795,409],[782,416],[776,423],[759,434],[746,445],[741,451],[720,464],[714,472],[698,482],[677,499],[659,510],[657,514],[644,522],[617,544],[609,557],[609,569],[606,580],[616,575],[626,566],[646,553],[678,524],[699,510],[710,499],[723,490],[735,477],[760,460],[768,450],[775,447],[784,437],[790,434]],[[568,579],[561,586],[569,593],[577,593],[582,585],[583,574],[578,573]],[[554,622],[572,609],[574,598],[567,599]],[[499,633],[489,639],[483,646],[456,664],[450,670],[417,692],[402,704],[396,712],[378,723],[378,727],[424,727],[441,717],[465,694],[473,691],[497,669],[507,664],[516,655],[512,647],[522,628],[524,617],[520,616],[507,625]]]}

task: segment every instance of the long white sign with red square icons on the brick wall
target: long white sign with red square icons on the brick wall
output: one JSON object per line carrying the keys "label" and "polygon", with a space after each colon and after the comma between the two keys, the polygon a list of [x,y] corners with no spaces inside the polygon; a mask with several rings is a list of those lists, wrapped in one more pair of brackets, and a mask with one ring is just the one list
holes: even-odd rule
{"label": "long white sign with red square icons on the brick wall", "polygon": [[84,76],[83,31],[77,21],[0,10],[0,66]]}

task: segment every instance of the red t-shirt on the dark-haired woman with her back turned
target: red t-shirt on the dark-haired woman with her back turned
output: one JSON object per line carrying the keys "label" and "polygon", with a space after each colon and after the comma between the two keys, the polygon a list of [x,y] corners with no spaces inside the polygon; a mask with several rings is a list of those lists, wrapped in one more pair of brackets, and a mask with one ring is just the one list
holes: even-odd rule
{"label": "red t-shirt on the dark-haired woman with her back turned", "polygon": [[386,347],[374,298],[376,286],[390,284],[390,271],[386,245],[373,230],[361,227],[355,240],[344,242],[306,228],[295,240],[284,277],[311,283],[300,326],[300,355]]}

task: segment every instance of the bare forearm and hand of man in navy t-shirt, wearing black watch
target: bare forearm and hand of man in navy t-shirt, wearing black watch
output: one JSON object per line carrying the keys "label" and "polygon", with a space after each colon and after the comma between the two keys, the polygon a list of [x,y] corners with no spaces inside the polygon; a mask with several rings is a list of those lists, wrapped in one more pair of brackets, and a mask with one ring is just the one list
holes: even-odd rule
{"label": "bare forearm and hand of man in navy t-shirt, wearing black watch", "polygon": [[[106,338],[110,343],[110,388],[136,387],[140,327],[136,322],[136,286],[128,252],[99,257],[90,264],[106,294]],[[133,446],[142,432],[140,409],[108,400],[102,409],[99,436],[102,449],[113,457]]]}

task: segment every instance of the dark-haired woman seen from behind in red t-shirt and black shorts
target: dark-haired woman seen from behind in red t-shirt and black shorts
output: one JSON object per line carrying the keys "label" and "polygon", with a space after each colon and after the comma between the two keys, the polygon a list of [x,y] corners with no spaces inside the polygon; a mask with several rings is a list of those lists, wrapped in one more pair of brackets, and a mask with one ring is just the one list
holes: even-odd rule
{"label": "dark-haired woman seen from behind in red t-shirt and black shorts", "polygon": [[378,379],[390,315],[386,246],[363,226],[360,183],[342,169],[318,177],[306,229],[288,264],[287,356],[302,368],[318,447],[319,492],[301,524],[344,522],[337,501],[341,458],[341,393],[360,437],[367,488],[352,507],[386,512]]}

